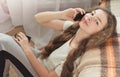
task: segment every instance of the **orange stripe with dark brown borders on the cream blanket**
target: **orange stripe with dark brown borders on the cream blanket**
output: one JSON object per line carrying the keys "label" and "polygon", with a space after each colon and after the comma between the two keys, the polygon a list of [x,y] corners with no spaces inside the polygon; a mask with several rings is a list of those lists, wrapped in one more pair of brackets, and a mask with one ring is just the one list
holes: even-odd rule
{"label": "orange stripe with dark brown borders on the cream blanket", "polygon": [[101,49],[102,77],[120,76],[120,35],[110,38]]}

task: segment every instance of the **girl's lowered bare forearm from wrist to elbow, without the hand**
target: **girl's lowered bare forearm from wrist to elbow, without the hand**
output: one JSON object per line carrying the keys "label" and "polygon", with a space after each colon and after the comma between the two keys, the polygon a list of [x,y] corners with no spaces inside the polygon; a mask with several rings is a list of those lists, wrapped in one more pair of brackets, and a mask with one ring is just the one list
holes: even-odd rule
{"label": "girl's lowered bare forearm from wrist to elbow, without the hand", "polygon": [[27,58],[40,77],[58,77],[55,71],[48,70],[37,60],[30,48],[24,50]]}

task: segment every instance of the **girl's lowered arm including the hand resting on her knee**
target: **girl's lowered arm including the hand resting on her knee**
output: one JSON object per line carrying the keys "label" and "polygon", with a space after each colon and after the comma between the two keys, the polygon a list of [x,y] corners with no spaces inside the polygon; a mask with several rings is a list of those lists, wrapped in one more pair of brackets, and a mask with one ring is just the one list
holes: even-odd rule
{"label": "girl's lowered arm including the hand resting on her knee", "polygon": [[28,60],[32,64],[32,67],[40,77],[59,77],[55,71],[48,72],[48,70],[37,60],[32,53],[27,37],[22,32],[18,33],[14,39],[21,46]]}

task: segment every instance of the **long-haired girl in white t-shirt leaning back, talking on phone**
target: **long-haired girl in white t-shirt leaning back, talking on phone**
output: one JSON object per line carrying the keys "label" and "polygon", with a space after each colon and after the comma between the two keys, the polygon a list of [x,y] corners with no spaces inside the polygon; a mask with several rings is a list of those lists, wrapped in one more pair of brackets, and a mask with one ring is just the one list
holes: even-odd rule
{"label": "long-haired girl in white t-shirt leaning back, talking on phone", "polygon": [[[79,12],[85,15],[81,20],[74,21]],[[3,63],[0,64],[2,73],[4,62],[9,59],[16,67],[21,66],[17,69],[25,77],[76,77],[75,68],[80,65],[80,62],[76,64],[76,61],[80,61],[86,51],[104,45],[116,32],[115,16],[100,7],[86,13],[81,8],[41,12],[36,14],[35,18],[44,26],[64,31],[41,50],[31,49],[27,37],[22,32],[14,38],[17,43],[12,37],[0,34],[0,54],[4,54],[1,56]],[[32,51],[40,51],[40,57],[36,58]],[[12,60],[6,58],[6,55],[13,56]]]}

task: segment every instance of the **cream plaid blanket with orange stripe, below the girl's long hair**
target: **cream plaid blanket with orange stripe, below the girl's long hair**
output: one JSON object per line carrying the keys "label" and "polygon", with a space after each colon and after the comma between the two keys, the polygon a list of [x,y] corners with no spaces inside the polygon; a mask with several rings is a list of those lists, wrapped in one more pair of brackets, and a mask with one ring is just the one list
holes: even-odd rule
{"label": "cream plaid blanket with orange stripe, below the girl's long hair", "polygon": [[120,34],[110,38],[104,47],[86,51],[75,64],[74,77],[119,77]]}

